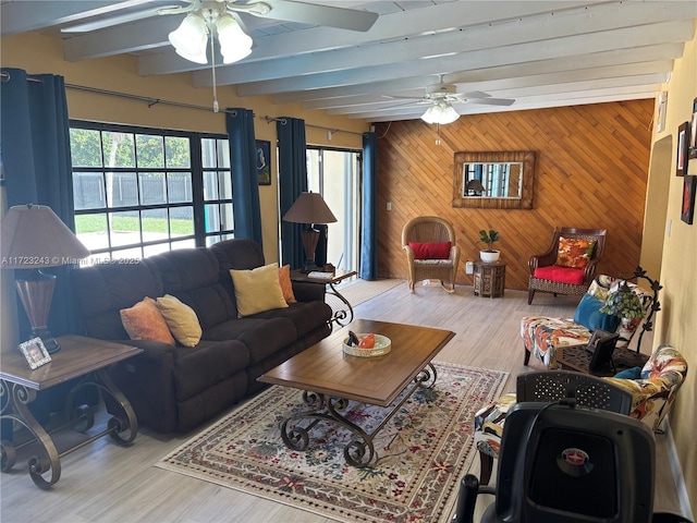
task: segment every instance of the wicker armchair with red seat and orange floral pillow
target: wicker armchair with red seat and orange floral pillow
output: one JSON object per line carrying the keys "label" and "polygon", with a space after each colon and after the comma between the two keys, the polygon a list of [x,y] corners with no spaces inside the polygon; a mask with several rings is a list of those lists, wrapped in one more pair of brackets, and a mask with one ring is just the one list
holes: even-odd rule
{"label": "wicker armchair with red seat and orange floral pillow", "polygon": [[535,291],[583,296],[602,257],[606,235],[604,229],[555,228],[547,252],[528,260],[527,304],[533,303]]}

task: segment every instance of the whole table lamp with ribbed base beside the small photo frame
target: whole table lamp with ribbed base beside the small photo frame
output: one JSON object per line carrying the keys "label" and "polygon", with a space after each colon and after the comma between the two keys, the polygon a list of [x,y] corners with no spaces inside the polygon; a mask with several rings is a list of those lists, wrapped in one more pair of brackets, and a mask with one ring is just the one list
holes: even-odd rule
{"label": "whole table lamp with ribbed base beside the small photo frame", "polygon": [[17,294],[29,324],[32,336],[41,338],[46,350],[53,353],[60,345],[48,330],[48,315],[56,288],[56,276],[39,269],[76,264],[89,251],[50,207],[20,205],[11,207],[2,218],[3,269],[24,269],[17,273]]}

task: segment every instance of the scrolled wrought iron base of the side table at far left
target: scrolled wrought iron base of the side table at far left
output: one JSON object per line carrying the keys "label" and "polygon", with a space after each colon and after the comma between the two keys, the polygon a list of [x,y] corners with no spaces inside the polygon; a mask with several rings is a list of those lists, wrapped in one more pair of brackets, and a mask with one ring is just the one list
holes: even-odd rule
{"label": "scrolled wrought iron base of the side table at far left", "polygon": [[[28,408],[28,404],[36,399],[37,391],[21,384],[0,380],[0,421],[11,419],[16,422],[25,427],[34,437],[17,447],[10,440],[2,440],[0,470],[5,472],[12,469],[16,462],[16,449],[37,441],[42,452],[39,455],[29,458],[29,475],[36,486],[46,490],[54,485],[61,477],[60,460],[62,457],[106,435],[110,435],[120,445],[131,443],[138,433],[138,422],[135,412],[129,400],[117,388],[103,368],[85,376],[69,392],[65,402],[65,415],[70,425],[72,425],[75,430],[85,431],[91,428],[94,424],[94,415],[87,405],[74,405],[75,394],[87,387],[94,387],[100,392],[106,393],[113,400],[113,402],[110,402],[110,405],[115,406],[120,413],[108,421],[107,428],[101,433],[81,441],[63,452],[58,452],[49,433],[36,421]],[[46,479],[44,475],[49,471],[50,478]]]}

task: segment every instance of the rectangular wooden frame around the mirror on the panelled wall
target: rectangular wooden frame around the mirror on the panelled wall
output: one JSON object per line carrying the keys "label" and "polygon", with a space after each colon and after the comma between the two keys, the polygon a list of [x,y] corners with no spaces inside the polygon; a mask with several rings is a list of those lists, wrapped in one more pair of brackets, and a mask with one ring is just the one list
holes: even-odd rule
{"label": "rectangular wooden frame around the mirror on the panelled wall", "polygon": [[[465,163],[523,163],[523,187],[519,198],[486,198],[463,196],[463,166]],[[535,183],[535,151],[505,150],[482,153],[455,153],[453,166],[453,207],[480,209],[531,209]]]}

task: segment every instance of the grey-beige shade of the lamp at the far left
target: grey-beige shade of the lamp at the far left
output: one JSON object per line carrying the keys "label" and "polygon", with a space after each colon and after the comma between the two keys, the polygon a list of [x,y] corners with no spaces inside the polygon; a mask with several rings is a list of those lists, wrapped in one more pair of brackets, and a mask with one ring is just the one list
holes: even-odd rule
{"label": "grey-beige shade of the lamp at the far left", "polygon": [[2,218],[2,268],[40,269],[77,263],[89,251],[50,207],[20,205]]}

